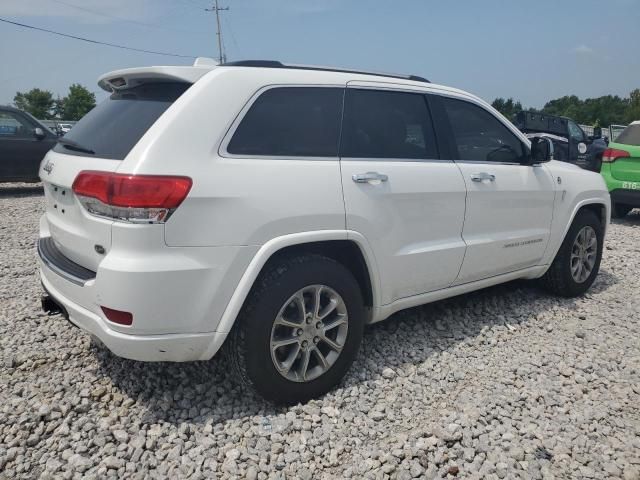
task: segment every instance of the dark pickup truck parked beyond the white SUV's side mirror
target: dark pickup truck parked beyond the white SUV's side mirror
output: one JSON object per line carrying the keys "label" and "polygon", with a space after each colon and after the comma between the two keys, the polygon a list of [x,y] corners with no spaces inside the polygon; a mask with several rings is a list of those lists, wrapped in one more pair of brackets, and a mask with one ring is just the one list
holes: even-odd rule
{"label": "dark pickup truck parked beyond the white SUV's side mirror", "polygon": [[574,163],[585,170],[599,172],[607,144],[597,128],[588,136],[575,121],[541,112],[519,112],[516,126],[529,138],[546,137],[553,142],[555,160]]}

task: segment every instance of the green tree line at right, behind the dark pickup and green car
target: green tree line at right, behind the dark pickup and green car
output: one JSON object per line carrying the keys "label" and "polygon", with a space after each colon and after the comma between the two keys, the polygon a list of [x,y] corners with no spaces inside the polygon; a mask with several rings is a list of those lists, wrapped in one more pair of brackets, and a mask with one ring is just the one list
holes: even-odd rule
{"label": "green tree line at right, behind the dark pickup and green car", "polygon": [[[534,108],[524,108],[519,100],[513,98],[498,97],[491,105],[510,120],[514,120],[521,110],[536,111]],[[582,100],[575,95],[565,95],[548,101],[541,111],[548,115],[569,117],[582,125],[626,125],[640,120],[640,88],[625,98],[605,95]]]}

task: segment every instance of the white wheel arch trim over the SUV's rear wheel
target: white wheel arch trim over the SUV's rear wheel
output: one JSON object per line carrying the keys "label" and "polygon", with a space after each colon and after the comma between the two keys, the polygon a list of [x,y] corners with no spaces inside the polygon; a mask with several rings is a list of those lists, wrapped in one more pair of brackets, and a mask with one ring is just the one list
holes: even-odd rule
{"label": "white wheel arch trim over the SUV's rear wheel", "polygon": [[362,290],[369,319],[373,318],[379,298],[379,280],[373,252],[366,239],[346,230],[308,232],[285,235],[264,244],[251,260],[216,328],[229,333],[253,285],[272,262],[283,255],[318,253],[345,265],[355,276]]}

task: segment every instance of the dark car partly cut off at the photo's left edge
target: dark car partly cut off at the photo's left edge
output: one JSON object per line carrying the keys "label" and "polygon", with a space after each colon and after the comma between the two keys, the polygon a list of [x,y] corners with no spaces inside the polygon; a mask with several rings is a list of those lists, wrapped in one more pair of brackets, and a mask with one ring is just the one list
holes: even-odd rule
{"label": "dark car partly cut off at the photo's left edge", "polygon": [[38,168],[58,137],[28,113],[0,107],[0,182],[38,182]]}

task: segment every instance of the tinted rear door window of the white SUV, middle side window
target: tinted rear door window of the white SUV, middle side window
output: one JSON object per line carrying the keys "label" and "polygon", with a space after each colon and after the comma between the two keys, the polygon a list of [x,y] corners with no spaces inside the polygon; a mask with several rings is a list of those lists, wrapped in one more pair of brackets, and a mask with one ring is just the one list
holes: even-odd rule
{"label": "tinted rear door window of the white SUV, middle side window", "polygon": [[351,158],[438,158],[425,96],[347,89],[340,155]]}

